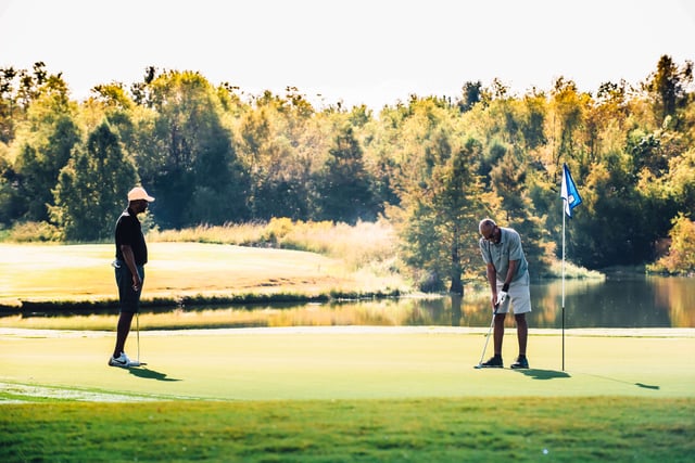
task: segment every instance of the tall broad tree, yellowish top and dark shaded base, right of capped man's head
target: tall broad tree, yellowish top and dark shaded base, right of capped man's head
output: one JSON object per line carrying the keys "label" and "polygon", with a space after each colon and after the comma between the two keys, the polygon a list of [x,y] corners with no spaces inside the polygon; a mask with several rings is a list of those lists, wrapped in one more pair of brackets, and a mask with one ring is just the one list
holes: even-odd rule
{"label": "tall broad tree, yellowish top and dark shaded base, right of capped man's head", "polygon": [[199,73],[168,72],[154,78],[147,92],[155,116],[147,126],[151,141],[136,160],[142,182],[157,197],[161,224],[248,218],[248,179],[222,124],[217,90]]}

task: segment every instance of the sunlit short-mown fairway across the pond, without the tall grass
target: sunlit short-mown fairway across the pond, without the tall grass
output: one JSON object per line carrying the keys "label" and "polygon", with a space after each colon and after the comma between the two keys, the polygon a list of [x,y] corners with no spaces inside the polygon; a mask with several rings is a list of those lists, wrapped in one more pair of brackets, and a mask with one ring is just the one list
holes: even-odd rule
{"label": "sunlit short-mown fairway across the pond, without the tall grass", "polygon": [[[224,244],[148,245],[143,307],[187,301],[328,299],[409,291],[397,274],[352,270],[309,252]],[[112,244],[0,244],[0,305],[38,308],[115,306]]]}

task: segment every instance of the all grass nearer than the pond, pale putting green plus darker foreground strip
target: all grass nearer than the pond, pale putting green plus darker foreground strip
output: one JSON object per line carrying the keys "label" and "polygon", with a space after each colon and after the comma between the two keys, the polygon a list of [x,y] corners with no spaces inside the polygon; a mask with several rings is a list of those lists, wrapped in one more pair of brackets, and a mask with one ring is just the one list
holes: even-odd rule
{"label": "all grass nearer than the pond, pale putting green plus darker foreground strip", "polygon": [[484,371],[482,329],[363,330],[148,332],[131,370],[112,333],[1,334],[0,461],[692,461],[692,331]]}

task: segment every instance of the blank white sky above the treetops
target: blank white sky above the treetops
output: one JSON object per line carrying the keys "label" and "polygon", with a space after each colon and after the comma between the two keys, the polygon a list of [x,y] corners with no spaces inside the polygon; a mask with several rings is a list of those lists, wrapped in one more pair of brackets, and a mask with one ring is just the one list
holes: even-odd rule
{"label": "blank white sky above the treetops", "polygon": [[0,68],[42,61],[75,100],[155,66],[379,110],[495,78],[516,94],[639,85],[664,54],[695,61],[695,1],[0,0]]}

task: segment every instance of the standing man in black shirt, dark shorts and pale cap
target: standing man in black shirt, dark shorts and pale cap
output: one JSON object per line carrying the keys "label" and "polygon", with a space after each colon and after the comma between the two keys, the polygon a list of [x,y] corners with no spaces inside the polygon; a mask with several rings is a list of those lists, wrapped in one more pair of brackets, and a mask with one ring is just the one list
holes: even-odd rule
{"label": "standing man in black shirt, dark shorts and pale cap", "polygon": [[140,294],[144,281],[144,265],[148,262],[148,246],[138,220],[138,214],[144,213],[154,198],[141,187],[128,192],[128,208],[116,221],[116,260],[113,266],[118,285],[121,316],[116,333],[116,345],[109,359],[111,366],[130,366],[130,359],[124,349],[130,332],[132,316],[139,311]]}

